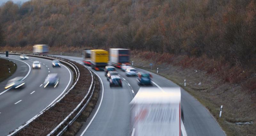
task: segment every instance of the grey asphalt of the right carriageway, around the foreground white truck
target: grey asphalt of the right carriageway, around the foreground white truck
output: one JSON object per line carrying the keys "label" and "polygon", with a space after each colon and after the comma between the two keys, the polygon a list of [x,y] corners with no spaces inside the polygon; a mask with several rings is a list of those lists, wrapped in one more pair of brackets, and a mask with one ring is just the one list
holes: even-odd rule
{"label": "grey asphalt of the right carriageway, around the foreground white truck", "polygon": [[[83,63],[82,58],[72,56],[58,57]],[[137,68],[138,71],[145,71]],[[117,72],[123,77],[123,88],[113,87],[110,89],[109,83],[104,76],[103,71],[95,71],[102,81],[102,92],[92,114],[84,123],[77,135],[83,136],[128,136],[130,107],[129,103],[136,95],[140,86],[137,84],[136,77],[127,77],[123,71],[117,69]],[[172,81],[154,73],[153,86],[161,87],[178,87]],[[210,112],[198,102],[187,91],[181,89],[181,106],[184,112],[184,125],[186,132],[182,134],[188,136],[224,136],[225,133],[220,128],[217,121],[212,117]]]}

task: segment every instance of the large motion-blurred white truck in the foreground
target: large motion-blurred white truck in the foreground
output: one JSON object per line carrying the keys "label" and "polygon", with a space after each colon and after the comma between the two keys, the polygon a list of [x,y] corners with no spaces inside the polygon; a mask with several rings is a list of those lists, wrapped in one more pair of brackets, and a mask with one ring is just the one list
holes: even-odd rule
{"label": "large motion-blurred white truck in the foreground", "polygon": [[132,136],[181,136],[180,88],[141,87],[130,108]]}

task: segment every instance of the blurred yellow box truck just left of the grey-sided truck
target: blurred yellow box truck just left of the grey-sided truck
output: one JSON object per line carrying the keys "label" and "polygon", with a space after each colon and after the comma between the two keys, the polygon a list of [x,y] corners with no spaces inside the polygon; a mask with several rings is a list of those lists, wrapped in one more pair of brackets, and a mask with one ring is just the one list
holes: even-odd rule
{"label": "blurred yellow box truck just left of the grey-sided truck", "polygon": [[108,65],[108,51],[91,50],[91,67],[95,70],[102,70]]}

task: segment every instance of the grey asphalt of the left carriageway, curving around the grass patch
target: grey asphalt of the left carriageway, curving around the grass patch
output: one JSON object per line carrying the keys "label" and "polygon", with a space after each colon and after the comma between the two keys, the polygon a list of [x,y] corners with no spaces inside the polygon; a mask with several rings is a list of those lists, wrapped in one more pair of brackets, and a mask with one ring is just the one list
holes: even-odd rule
{"label": "grey asphalt of the left carriageway, curving around the grass patch", "polygon": [[[5,58],[5,54],[0,56]],[[0,83],[0,135],[8,135],[9,132],[43,111],[45,107],[58,100],[73,82],[73,72],[64,65],[61,65],[61,68],[52,68],[51,60],[36,57],[20,60],[19,55],[10,54],[9,58],[16,63],[17,70],[11,77]],[[41,69],[32,69],[33,61],[39,61]],[[44,88],[42,85],[50,73],[58,73],[60,77],[56,88]],[[25,77],[25,87],[4,89],[6,82],[17,76]]]}

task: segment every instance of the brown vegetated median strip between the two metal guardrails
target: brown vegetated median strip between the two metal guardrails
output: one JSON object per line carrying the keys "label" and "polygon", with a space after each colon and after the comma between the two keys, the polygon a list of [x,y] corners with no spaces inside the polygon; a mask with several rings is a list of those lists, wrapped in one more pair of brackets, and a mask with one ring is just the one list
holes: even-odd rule
{"label": "brown vegetated median strip between the two metal guardrails", "polygon": [[90,71],[84,66],[73,63],[80,71],[80,78],[75,87],[59,103],[45,111],[17,135],[47,135],[81,102],[88,92],[92,77]]}

